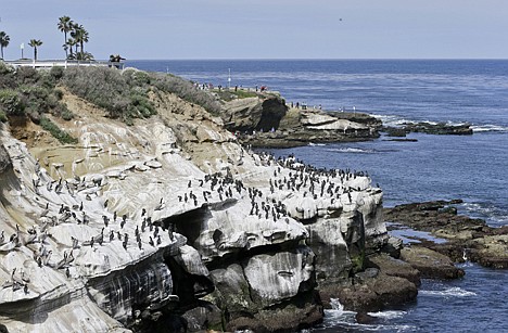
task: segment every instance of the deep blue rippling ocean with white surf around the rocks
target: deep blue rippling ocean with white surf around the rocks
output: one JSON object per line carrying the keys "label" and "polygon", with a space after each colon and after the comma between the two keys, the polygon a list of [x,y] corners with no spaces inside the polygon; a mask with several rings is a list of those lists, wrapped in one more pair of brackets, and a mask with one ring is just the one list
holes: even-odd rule
{"label": "deep blue rippling ocean with white surf around the rocks", "polygon": [[[508,225],[508,61],[505,60],[220,60],[127,61],[224,87],[279,91],[288,102],[404,121],[469,123],[472,136],[411,133],[357,143],[270,150],[317,167],[364,170],[384,192],[384,205],[461,198],[460,214]],[[231,78],[229,81],[228,78]],[[372,313],[357,324],[340,304],[317,332],[508,332],[508,271],[471,262],[457,281],[423,281],[415,304]]]}

